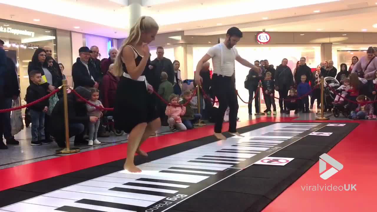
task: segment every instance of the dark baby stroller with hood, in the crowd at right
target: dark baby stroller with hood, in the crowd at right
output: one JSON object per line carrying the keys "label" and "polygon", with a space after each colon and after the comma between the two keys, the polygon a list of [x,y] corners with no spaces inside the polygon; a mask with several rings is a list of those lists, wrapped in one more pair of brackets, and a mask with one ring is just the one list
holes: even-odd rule
{"label": "dark baby stroller with hood, in the crowd at right", "polygon": [[[351,113],[347,107],[347,104],[335,104],[333,105],[333,101],[335,100],[336,94],[332,90],[337,90],[340,87],[340,83],[334,77],[325,77],[325,104],[327,108],[332,109],[334,117],[339,117],[340,113],[342,113],[345,117]],[[327,85],[329,87],[327,87]],[[337,93],[342,93],[341,91],[337,91]],[[345,101],[346,102],[346,101]]]}

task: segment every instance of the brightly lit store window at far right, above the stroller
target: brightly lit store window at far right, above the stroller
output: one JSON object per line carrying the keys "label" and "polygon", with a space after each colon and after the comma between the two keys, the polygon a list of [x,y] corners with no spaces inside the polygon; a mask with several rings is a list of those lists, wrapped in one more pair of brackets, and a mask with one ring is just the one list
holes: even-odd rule
{"label": "brightly lit store window at far right, above the stroller", "polygon": [[369,46],[377,46],[377,44],[333,44],[332,55],[334,67],[340,70],[340,64],[345,63],[347,68],[352,64],[352,57],[362,58],[366,55]]}

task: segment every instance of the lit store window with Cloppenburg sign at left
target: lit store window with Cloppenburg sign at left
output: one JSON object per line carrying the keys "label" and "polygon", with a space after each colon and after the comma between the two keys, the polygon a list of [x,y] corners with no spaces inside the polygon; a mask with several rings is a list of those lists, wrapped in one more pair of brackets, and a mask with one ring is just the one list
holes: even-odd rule
{"label": "lit store window with Cloppenburg sign at left", "polygon": [[[37,48],[50,46],[52,57],[57,60],[56,31],[40,26],[27,25],[0,19],[0,39],[4,41],[6,55],[17,66],[20,82],[21,104],[24,105],[26,88],[29,86],[28,64]],[[25,109],[23,109],[24,113]]]}

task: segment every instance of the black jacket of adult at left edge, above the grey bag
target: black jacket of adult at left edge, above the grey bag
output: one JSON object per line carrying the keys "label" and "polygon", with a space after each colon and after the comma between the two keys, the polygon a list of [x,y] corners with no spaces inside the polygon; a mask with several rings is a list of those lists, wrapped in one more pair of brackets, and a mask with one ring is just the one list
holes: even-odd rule
{"label": "black jacket of adult at left edge, above the grey bag", "polygon": [[7,69],[4,76],[4,96],[10,98],[20,95],[20,86],[18,85],[18,77],[16,73],[16,65],[13,60],[7,57]]}

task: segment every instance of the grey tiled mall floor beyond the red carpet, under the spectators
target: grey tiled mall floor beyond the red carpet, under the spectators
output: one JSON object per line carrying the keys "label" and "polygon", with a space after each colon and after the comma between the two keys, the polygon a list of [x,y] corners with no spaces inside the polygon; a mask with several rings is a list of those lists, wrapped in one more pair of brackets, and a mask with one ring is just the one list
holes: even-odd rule
{"label": "grey tiled mall floor beyond the red carpet, under the spectators", "polygon": [[[315,108],[315,106],[314,106]],[[262,111],[265,110],[265,105],[262,104]],[[316,109],[314,109],[316,112]],[[239,120],[250,120],[260,117],[297,117],[296,120],[314,120],[317,115],[316,113],[311,112],[309,114],[294,114],[292,111],[290,115],[280,114],[279,109],[277,115],[262,115],[262,116],[249,116],[247,106],[241,106],[239,108],[238,117]],[[326,114],[326,116],[331,116],[331,114]],[[344,120],[344,117],[340,116],[339,118],[334,118],[331,116],[331,120]],[[169,128],[161,127],[158,131],[158,135],[170,134]],[[64,157],[64,155],[57,155],[55,151],[60,149],[56,143],[51,143],[48,145],[42,146],[31,146],[31,133],[30,128],[23,129],[20,133],[15,135],[15,138],[20,141],[20,145],[8,145],[9,149],[0,151],[0,169],[5,169],[8,167],[18,166],[22,164],[33,163],[41,160],[48,160],[55,157]],[[73,138],[71,140],[71,145],[73,146]],[[116,137],[112,135],[108,138],[99,138],[102,142],[98,146],[77,146],[81,149],[81,152],[91,151],[98,148],[109,147],[121,143],[127,142],[127,136],[123,135]]]}

